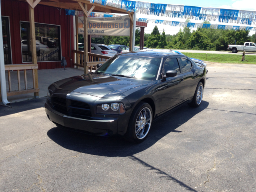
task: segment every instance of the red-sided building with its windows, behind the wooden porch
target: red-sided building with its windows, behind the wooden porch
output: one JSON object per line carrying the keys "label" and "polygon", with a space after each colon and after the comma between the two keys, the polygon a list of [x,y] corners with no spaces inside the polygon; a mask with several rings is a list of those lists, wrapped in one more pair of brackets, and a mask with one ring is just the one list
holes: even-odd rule
{"label": "red-sided building with its windows, behind the wooden porch", "polygon": [[[27,2],[1,0],[5,64],[31,63],[28,6]],[[38,69],[60,68],[62,57],[67,67],[72,67],[73,16],[66,15],[64,9],[38,4],[34,18]]]}

